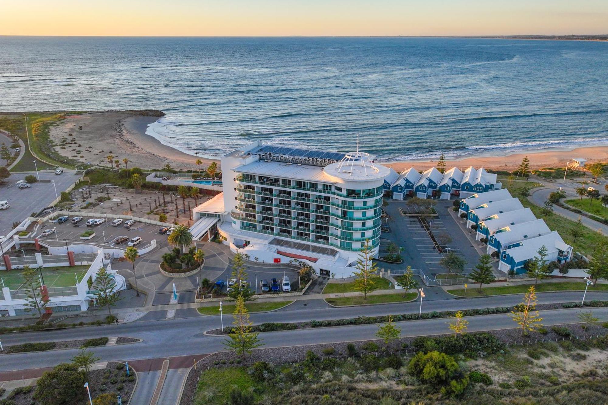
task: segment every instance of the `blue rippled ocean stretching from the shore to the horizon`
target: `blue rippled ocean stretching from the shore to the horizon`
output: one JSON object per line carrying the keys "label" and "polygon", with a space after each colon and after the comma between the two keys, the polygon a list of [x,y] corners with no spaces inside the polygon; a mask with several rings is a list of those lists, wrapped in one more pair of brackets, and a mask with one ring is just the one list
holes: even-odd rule
{"label": "blue rippled ocean stretching from the shore to the horizon", "polygon": [[0,36],[0,55],[0,111],[161,109],[147,133],[202,156],[608,145],[606,42]]}

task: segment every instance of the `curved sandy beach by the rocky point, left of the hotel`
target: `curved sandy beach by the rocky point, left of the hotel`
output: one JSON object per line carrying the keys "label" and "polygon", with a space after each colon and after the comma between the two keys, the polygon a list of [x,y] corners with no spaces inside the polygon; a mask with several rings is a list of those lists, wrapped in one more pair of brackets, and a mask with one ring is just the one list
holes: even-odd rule
{"label": "curved sandy beach by the rocky point, left of the hotel", "polygon": [[[108,165],[106,156],[112,154],[120,161],[120,167],[124,167],[122,159],[125,158],[129,159],[129,167],[140,168],[161,168],[170,163],[176,169],[196,170],[196,159],[204,162],[201,168],[209,165],[210,159],[168,147],[147,135],[148,124],[157,119],[134,111],[88,112],[66,116],[51,128],[50,138],[55,142],[55,150],[63,156],[91,164]],[[63,137],[75,137],[78,144],[62,149],[59,144]]]}

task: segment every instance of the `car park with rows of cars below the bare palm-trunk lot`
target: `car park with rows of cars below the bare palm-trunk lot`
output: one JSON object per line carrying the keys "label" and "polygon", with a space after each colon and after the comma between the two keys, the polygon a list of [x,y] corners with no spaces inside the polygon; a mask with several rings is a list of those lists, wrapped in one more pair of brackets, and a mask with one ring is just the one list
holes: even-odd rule
{"label": "car park with rows of cars below the bare palm-trunk lot", "polygon": [[[70,220],[74,218],[70,217]],[[140,237],[142,238],[142,243],[137,245],[137,249],[142,249],[150,244],[153,239],[156,239],[157,243],[161,241],[167,240],[167,235],[158,234],[159,227],[150,224],[143,224],[140,222],[136,222],[131,226],[131,229],[127,229],[124,226],[124,221],[119,226],[112,226],[111,221],[112,218],[108,218],[108,221],[101,225],[95,226],[86,226],[86,221],[92,217],[85,216],[83,219],[77,223],[72,224],[71,221],[67,221],[63,224],[54,223],[52,221],[46,221],[42,224],[42,226],[36,231],[36,234],[33,237],[40,237],[40,239],[44,240],[66,240],[68,244],[75,243],[95,243],[95,244],[107,244],[112,247],[122,247],[126,248],[126,242],[122,244],[114,243],[114,239],[119,236],[126,236],[128,238]],[[103,218],[101,216],[100,218]],[[56,233],[50,234],[48,237],[42,237],[41,234],[45,229],[55,229]],[[86,230],[93,230],[95,232],[95,236],[91,238],[91,240],[81,240],[80,235]]]}

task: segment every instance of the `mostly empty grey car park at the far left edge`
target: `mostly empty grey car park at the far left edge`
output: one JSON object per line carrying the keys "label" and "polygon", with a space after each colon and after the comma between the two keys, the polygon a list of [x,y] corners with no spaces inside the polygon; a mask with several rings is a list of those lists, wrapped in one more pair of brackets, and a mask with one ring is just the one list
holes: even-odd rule
{"label": "mostly empty grey car park at the far left edge", "polygon": [[57,195],[61,195],[61,192],[78,180],[80,172],[66,171],[62,175],[40,172],[40,182],[32,183],[29,189],[19,189],[16,182],[23,180],[27,175],[35,176],[36,172],[11,175],[7,179],[8,184],[0,185],[0,200],[7,200],[10,204],[9,209],[0,210],[0,235],[6,235],[11,231],[13,222],[20,223],[33,212],[39,212],[54,201],[55,187],[51,180],[55,181]]}

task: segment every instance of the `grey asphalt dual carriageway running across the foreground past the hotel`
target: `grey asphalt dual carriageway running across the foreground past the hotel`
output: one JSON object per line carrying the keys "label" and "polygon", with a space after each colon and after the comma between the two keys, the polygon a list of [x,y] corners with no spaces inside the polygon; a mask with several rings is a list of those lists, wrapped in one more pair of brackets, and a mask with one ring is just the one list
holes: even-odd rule
{"label": "grey asphalt dual carriageway running across the foreground past the hotel", "polygon": [[[539,303],[572,302],[581,299],[581,292],[539,293]],[[606,292],[589,292],[587,299],[607,299]],[[521,294],[514,296],[485,297],[478,299],[452,299],[423,302],[423,311],[458,310],[468,308],[488,308],[492,306],[511,306],[522,300]],[[390,313],[417,313],[419,302],[406,304],[371,305],[347,308],[314,308],[282,313],[252,314],[254,323],[261,322],[298,322],[305,320],[339,319],[360,315],[373,316]],[[608,320],[608,308],[589,308],[601,320]],[[543,311],[544,324],[578,322],[580,310]],[[224,316],[224,324],[232,320]],[[513,328],[514,322],[508,314],[468,317],[469,331]],[[425,334],[446,333],[445,319],[416,320],[398,322],[402,336],[421,336]],[[88,339],[98,336],[129,336],[143,339],[130,345],[116,345],[93,348],[102,361],[124,361],[133,359],[158,358],[162,356],[182,356],[199,353],[223,351],[224,338],[206,336],[204,331],[219,328],[219,317],[187,317],[173,320],[133,322],[130,324],[106,325],[102,327],[71,328],[63,331],[41,331],[32,333],[13,333],[2,335],[2,344],[12,345],[24,341],[62,341]],[[378,326],[352,325],[348,327],[314,328],[309,330],[279,331],[260,334],[264,347],[283,347],[291,345],[319,344],[329,342],[357,341],[375,339]],[[51,367],[59,362],[69,361],[76,349],[57,350],[41,353],[22,353],[1,356],[0,371]]]}

